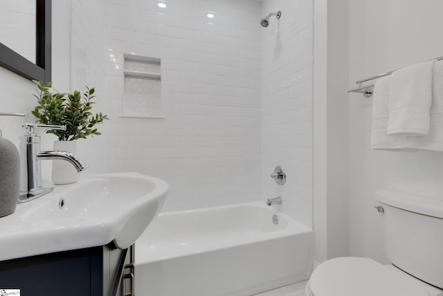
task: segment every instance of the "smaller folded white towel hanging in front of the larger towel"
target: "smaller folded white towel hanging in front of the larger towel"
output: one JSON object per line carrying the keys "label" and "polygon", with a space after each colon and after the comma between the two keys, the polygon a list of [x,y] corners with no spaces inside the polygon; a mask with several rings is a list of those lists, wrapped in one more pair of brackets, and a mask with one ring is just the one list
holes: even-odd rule
{"label": "smaller folded white towel hanging in front of the larger towel", "polygon": [[428,134],[434,62],[435,60],[415,64],[392,73],[388,134]]}

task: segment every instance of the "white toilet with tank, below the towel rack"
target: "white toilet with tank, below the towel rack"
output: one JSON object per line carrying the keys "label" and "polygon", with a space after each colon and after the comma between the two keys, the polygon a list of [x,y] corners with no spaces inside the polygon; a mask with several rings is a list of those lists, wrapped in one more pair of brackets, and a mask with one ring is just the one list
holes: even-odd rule
{"label": "white toilet with tank, below the towel rack", "polygon": [[327,260],[312,272],[307,296],[442,296],[443,200],[377,191],[384,251],[392,264],[367,258]]}

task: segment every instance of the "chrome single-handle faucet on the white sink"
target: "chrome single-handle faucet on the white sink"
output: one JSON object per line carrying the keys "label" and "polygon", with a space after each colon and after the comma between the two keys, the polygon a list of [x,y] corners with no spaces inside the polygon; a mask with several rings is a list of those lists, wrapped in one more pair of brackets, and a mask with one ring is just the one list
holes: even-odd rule
{"label": "chrome single-handle faucet on the white sink", "polygon": [[84,171],[88,167],[68,151],[40,151],[40,137],[35,134],[34,129],[66,130],[66,125],[24,123],[23,127],[28,131],[20,137],[20,195],[18,202],[28,202],[54,190],[53,187],[43,187],[40,160],[64,159],[71,163],[78,172]]}

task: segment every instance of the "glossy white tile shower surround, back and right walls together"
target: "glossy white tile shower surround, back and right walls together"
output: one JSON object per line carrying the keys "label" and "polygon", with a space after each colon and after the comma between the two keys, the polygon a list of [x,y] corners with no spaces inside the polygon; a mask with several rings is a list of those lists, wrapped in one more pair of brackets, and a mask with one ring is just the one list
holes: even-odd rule
{"label": "glossy white tile shower surround, back and right walls together", "polygon": [[[311,1],[105,2],[107,171],[166,180],[164,210],[259,200],[264,189],[310,213]],[[260,26],[268,9],[284,10],[279,33],[275,18]],[[120,117],[124,54],[161,59],[165,119]],[[262,189],[262,175],[278,164],[293,185]],[[311,225],[308,216],[302,222]]]}

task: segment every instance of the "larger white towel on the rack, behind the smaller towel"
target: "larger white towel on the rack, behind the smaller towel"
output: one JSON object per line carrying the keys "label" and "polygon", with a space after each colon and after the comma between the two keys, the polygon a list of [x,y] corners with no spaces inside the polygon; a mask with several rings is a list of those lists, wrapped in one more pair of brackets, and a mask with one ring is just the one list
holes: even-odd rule
{"label": "larger white towel on the rack, behind the smaller towel", "polygon": [[[388,78],[388,77],[386,77]],[[372,149],[404,149],[443,151],[443,60],[435,62],[432,77],[432,103],[430,110],[429,133],[414,137],[402,134],[388,135],[388,95],[390,80],[380,78],[375,82],[372,102]]]}

